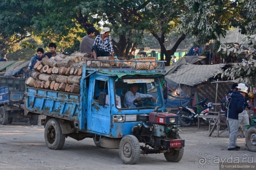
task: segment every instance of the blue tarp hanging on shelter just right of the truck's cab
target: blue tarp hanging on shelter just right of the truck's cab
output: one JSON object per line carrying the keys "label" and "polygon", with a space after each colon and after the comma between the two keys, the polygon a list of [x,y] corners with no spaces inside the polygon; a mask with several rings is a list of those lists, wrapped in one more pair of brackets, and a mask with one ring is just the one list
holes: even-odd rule
{"label": "blue tarp hanging on shelter just right of the truck's cab", "polygon": [[[180,92],[180,87],[177,83],[172,81],[171,79],[165,78],[167,81],[167,90],[168,90],[168,98],[167,98],[167,103],[165,104],[165,107],[177,107],[181,106],[181,101],[182,101],[182,106],[186,107],[189,105],[190,97],[181,90]],[[181,93],[181,97],[180,97]]]}

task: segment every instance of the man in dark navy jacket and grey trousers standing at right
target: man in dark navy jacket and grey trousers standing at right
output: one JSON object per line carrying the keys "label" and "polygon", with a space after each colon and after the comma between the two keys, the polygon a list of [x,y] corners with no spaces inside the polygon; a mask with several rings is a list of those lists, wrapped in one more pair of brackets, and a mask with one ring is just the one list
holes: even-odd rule
{"label": "man in dark navy jacket and grey trousers standing at right", "polygon": [[238,114],[243,111],[244,97],[239,91],[234,90],[231,94],[231,101],[228,107],[228,111],[225,114],[227,117],[227,123],[229,125],[229,144],[227,150],[238,150],[240,147],[236,145],[238,135]]}

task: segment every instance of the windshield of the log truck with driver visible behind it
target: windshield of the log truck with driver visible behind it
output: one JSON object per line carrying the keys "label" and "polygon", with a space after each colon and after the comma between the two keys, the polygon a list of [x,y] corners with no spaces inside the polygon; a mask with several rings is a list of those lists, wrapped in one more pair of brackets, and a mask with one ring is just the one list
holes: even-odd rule
{"label": "windshield of the log truck with driver visible behind it", "polygon": [[163,105],[158,79],[116,79],[115,94],[116,107],[120,108],[121,104],[121,109],[147,109]]}

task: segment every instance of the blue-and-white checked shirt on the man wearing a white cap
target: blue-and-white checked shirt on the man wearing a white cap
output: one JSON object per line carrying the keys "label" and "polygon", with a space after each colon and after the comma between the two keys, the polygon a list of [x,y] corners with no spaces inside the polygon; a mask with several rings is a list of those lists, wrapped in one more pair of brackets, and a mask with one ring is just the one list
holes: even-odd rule
{"label": "blue-and-white checked shirt on the man wearing a white cap", "polygon": [[97,35],[93,45],[97,45],[99,50],[104,50],[104,51],[108,51],[108,52],[114,51],[112,38],[110,36],[108,36],[104,40],[102,40],[101,34]]}

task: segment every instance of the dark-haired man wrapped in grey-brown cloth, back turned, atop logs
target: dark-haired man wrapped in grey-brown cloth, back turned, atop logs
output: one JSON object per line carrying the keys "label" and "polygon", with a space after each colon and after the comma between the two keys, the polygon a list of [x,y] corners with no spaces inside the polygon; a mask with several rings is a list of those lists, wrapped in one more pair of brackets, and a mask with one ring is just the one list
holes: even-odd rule
{"label": "dark-haired man wrapped in grey-brown cloth, back turned, atop logs", "polygon": [[89,54],[89,57],[91,57],[91,58],[93,57],[92,56],[92,46],[95,41],[95,39],[93,38],[95,31],[96,31],[96,29],[94,27],[89,27],[87,30],[87,35],[82,38],[82,41],[79,46],[81,53],[87,53],[87,54]]}

